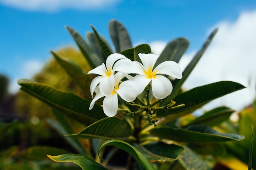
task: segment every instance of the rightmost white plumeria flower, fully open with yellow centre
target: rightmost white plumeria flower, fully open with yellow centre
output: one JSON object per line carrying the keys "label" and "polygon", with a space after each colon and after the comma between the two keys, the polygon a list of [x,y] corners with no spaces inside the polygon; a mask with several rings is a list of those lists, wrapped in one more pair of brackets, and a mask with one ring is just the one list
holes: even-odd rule
{"label": "rightmost white plumeria flower, fully open with yellow centre", "polygon": [[171,81],[161,74],[172,76],[174,78],[182,78],[180,65],[174,61],[164,61],[154,68],[155,62],[159,56],[155,54],[139,54],[143,65],[138,61],[133,61],[133,73],[138,74],[132,78],[132,81],[139,85],[139,94],[143,92],[145,87],[151,81],[153,96],[156,99],[166,98],[173,91]]}

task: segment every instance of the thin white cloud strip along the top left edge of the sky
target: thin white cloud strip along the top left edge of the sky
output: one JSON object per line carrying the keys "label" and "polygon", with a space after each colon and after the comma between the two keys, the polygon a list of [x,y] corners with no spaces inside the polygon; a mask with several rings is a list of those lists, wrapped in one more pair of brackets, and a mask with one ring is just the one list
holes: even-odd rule
{"label": "thin white cloud strip along the top left edge of the sky", "polygon": [[69,9],[99,9],[112,6],[119,0],[0,0],[0,4],[28,11]]}

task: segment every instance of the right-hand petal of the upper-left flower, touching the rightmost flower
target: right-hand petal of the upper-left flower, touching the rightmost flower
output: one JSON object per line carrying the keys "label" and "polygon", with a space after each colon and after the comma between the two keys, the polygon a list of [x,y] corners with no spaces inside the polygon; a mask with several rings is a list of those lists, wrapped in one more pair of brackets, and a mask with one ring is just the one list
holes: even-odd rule
{"label": "right-hand petal of the upper-left flower, touching the rightmost flower", "polygon": [[113,71],[131,73],[132,72],[132,61],[128,58],[118,60],[114,64]]}

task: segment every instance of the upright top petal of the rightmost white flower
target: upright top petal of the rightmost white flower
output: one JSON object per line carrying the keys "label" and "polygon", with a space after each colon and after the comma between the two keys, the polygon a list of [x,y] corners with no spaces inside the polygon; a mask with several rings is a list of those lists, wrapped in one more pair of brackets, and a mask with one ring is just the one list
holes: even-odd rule
{"label": "upright top petal of the rightmost white flower", "polygon": [[157,58],[159,57],[156,54],[143,54],[139,53],[139,58],[141,59],[142,64],[146,70],[153,69]]}

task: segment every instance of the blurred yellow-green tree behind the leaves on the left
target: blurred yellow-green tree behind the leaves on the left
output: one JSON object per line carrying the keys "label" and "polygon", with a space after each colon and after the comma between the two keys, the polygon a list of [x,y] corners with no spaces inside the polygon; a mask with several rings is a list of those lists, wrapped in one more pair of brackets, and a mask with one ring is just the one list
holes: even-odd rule
{"label": "blurred yellow-green tree behind the leaves on the left", "polygon": [[[83,72],[87,73],[91,70],[87,61],[84,59],[83,55],[79,50],[72,47],[61,48],[57,52],[58,55],[65,57],[74,61],[79,65]],[[63,68],[58,64],[58,62],[52,58],[50,59],[43,69],[32,78],[32,80],[53,86],[57,89],[63,91],[72,91],[80,96],[83,96],[83,92],[75,85],[74,81],[69,77]],[[85,80],[86,81],[86,80]],[[90,81],[87,81],[88,94],[90,94]],[[38,99],[26,94],[25,92],[18,92],[16,99],[16,111],[20,114],[25,114],[29,116],[37,116],[38,118],[48,118],[52,117],[51,109]]]}

